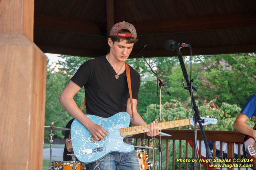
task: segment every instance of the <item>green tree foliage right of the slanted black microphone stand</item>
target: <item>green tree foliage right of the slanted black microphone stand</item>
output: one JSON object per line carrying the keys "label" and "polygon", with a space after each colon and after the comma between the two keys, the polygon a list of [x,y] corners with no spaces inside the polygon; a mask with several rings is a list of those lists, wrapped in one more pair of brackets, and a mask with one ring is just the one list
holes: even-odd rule
{"label": "green tree foliage right of the slanted black microphone stand", "polygon": [[256,92],[256,55],[225,54],[197,56],[201,64],[198,95],[208,101],[216,99],[242,107]]}

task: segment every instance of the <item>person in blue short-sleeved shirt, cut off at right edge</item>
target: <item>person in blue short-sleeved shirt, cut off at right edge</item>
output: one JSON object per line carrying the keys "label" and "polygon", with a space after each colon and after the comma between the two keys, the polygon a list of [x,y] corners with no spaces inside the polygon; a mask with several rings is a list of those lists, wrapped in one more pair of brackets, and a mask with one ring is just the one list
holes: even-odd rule
{"label": "person in blue short-sleeved shirt, cut off at right edge", "polygon": [[250,128],[246,121],[252,117],[256,116],[256,93],[254,93],[244,104],[240,114],[234,122],[234,128],[243,134],[252,136],[256,141],[256,130]]}

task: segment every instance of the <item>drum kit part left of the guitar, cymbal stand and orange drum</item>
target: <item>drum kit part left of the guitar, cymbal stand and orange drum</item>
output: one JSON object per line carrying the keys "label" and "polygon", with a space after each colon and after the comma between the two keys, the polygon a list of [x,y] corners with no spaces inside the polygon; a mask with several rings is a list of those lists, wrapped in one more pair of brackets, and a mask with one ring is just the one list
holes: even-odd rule
{"label": "drum kit part left of the guitar, cymbal stand and orange drum", "polygon": [[50,136],[50,164],[48,170],[85,170],[85,164],[76,161],[75,154],[68,154],[72,157],[72,161],[51,161],[52,158],[52,146],[53,146],[53,136],[54,130],[70,130],[69,128],[62,128],[54,126],[54,122],[51,122],[50,126],[45,126],[45,130],[51,130]]}

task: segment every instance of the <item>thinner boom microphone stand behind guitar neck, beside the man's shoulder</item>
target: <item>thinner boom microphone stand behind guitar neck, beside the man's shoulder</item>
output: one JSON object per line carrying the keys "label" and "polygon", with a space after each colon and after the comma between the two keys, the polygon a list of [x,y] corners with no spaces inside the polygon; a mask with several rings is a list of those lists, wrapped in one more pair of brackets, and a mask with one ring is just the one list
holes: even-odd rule
{"label": "thinner boom microphone stand behind guitar neck, beside the man's shoulder", "polygon": [[[145,47],[145,46],[144,46]],[[143,47],[142,47],[143,49]],[[141,50],[142,50],[141,49]],[[141,51],[140,50],[140,51]],[[146,61],[146,59],[144,58],[144,56],[142,56],[142,54],[140,52],[136,53],[136,56],[141,56],[146,64],[148,65],[148,67],[150,68],[150,70],[152,71],[152,73],[156,76],[157,80],[159,81],[159,89],[160,89],[160,112],[159,112],[159,122],[162,122],[161,120],[161,90],[162,88],[164,87],[166,92],[169,94],[169,96],[171,96],[170,92],[167,90],[167,88],[165,87],[165,85],[163,84],[162,80],[158,77],[158,75],[156,74],[156,72],[154,72],[154,70],[152,69],[152,67],[148,64],[148,62]],[[159,130],[161,132],[161,130]],[[162,140],[161,140],[161,135],[159,135],[159,170],[162,170],[162,148],[161,148],[161,145],[162,145]],[[154,152],[154,150],[153,150]],[[153,153],[154,154],[154,153]],[[154,161],[154,160],[153,160]],[[154,164],[153,164],[154,165]]]}

